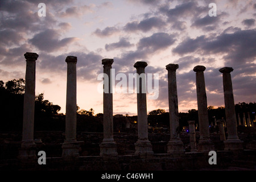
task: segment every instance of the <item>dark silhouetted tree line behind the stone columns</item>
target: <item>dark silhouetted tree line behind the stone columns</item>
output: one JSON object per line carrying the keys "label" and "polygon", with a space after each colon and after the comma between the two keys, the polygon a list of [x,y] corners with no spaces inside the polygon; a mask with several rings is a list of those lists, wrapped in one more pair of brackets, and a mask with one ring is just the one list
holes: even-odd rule
{"label": "dark silhouetted tree line behind the stone columns", "polygon": [[[23,123],[23,100],[24,100],[25,80],[22,78],[3,82],[0,80],[0,131],[22,131]],[[65,130],[65,115],[59,114],[61,107],[54,105],[48,100],[44,100],[44,93],[35,96],[35,130]],[[256,103],[249,104],[242,102],[235,105],[236,113],[250,113],[254,118]],[[241,117],[242,115],[240,115]],[[137,116],[129,116],[129,121],[137,121]],[[214,118],[225,119],[225,107],[208,106],[209,125],[214,123]],[[198,111],[188,110],[187,113],[179,113],[180,127],[188,126],[187,121],[194,120],[198,123]],[[114,118],[114,131],[120,131],[125,127],[126,119]],[[148,123],[151,126],[170,125],[169,113],[164,109],[152,110],[148,113]],[[103,114],[95,114],[91,108],[81,109],[77,106],[77,131],[103,131]]]}

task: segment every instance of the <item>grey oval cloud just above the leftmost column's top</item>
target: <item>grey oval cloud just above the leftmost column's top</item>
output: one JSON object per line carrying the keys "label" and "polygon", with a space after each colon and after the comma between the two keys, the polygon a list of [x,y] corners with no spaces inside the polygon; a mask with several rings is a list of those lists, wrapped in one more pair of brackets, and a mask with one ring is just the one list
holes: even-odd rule
{"label": "grey oval cloud just above the leftmost column's top", "polygon": [[59,39],[60,34],[52,29],[44,30],[34,36],[34,38],[28,40],[34,46],[39,48],[41,51],[56,51],[57,49],[63,48],[68,44],[75,42],[76,38],[64,38]]}

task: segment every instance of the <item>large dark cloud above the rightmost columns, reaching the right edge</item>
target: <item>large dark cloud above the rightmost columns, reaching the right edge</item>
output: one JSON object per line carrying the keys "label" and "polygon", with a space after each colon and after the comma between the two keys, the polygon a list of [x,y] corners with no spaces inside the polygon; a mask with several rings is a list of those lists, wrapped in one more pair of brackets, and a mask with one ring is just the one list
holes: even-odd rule
{"label": "large dark cloud above the rightmost columns, reaching the right edge", "polygon": [[220,34],[215,38],[204,35],[195,39],[187,38],[172,51],[183,55],[196,51],[203,53],[221,53],[226,61],[242,64],[256,57],[256,30],[241,30],[233,34]]}

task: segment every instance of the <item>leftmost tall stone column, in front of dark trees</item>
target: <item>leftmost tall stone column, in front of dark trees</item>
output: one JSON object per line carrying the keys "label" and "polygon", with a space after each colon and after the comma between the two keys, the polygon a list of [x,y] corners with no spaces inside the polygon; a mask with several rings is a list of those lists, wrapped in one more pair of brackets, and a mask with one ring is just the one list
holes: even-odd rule
{"label": "leftmost tall stone column, in front of dark trees", "polygon": [[26,52],[26,84],[23,105],[23,132],[22,144],[19,149],[19,159],[35,159],[36,144],[34,142],[34,115],[35,115],[35,61],[38,54]]}

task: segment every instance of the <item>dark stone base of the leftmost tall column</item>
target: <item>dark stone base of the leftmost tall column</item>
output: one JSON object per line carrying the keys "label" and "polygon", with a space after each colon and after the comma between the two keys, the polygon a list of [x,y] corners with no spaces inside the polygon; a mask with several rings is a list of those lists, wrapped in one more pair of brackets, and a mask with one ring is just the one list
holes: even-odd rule
{"label": "dark stone base of the leftmost tall column", "polygon": [[19,148],[19,159],[36,159],[36,144],[34,140],[22,141]]}

